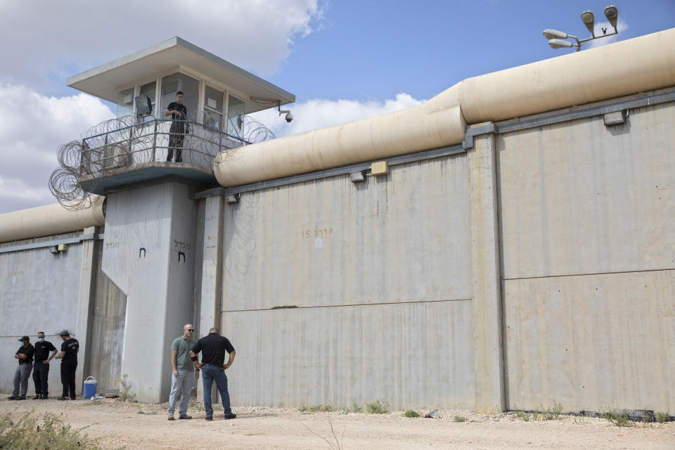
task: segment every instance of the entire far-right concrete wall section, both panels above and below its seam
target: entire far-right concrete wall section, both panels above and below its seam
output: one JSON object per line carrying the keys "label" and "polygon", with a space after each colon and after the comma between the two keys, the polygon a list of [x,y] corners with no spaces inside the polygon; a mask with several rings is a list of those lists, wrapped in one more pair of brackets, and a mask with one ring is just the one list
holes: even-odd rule
{"label": "entire far-right concrete wall section, both panels above and below its seam", "polygon": [[674,123],[497,137],[510,408],[675,410]]}

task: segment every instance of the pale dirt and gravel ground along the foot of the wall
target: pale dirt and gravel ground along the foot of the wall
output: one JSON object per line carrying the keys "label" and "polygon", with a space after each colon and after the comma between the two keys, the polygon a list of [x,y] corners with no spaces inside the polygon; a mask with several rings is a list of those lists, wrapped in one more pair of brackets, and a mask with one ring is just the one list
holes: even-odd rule
{"label": "pale dirt and gravel ground along the foot of the wall", "polygon": [[[167,404],[6,397],[0,397],[3,415],[57,413],[75,428],[86,427],[105,449],[675,449],[675,423],[619,428],[604,419],[572,416],[525,422],[513,415],[458,410],[439,411],[439,418],[431,419],[406,418],[401,411],[303,413],[253,406],[233,407],[234,420],[223,420],[222,410],[216,410],[207,422],[200,403],[188,409],[192,420],[169,422]],[[467,420],[458,423],[455,416]]]}

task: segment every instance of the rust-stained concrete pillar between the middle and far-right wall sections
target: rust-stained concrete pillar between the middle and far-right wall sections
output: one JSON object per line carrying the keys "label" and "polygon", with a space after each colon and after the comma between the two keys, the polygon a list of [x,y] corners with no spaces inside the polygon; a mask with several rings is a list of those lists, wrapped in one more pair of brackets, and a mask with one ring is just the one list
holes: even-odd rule
{"label": "rust-stained concrete pillar between the middle and far-right wall sections", "polygon": [[499,223],[494,134],[475,136],[467,151],[475,409],[504,410]]}

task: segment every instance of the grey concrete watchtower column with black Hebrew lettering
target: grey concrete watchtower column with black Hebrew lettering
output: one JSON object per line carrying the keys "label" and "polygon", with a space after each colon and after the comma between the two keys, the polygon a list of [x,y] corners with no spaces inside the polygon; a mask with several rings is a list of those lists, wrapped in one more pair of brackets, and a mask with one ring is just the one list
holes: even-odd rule
{"label": "grey concrete watchtower column with black Hebrew lettering", "polygon": [[196,217],[178,181],[108,195],[101,265],[127,294],[122,376],[139,401],[169,397],[171,343],[193,316]]}

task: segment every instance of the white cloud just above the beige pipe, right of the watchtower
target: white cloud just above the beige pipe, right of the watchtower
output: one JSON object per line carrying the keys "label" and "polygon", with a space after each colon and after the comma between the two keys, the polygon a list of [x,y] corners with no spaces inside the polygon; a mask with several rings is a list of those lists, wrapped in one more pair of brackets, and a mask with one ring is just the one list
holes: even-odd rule
{"label": "white cloud just above the beige pipe, right of the watchtower", "polygon": [[412,108],[423,103],[409,94],[397,94],[395,98],[380,101],[356,100],[323,100],[316,98],[304,103],[288,105],[293,113],[293,122],[287,123],[283,116],[279,117],[275,110],[255,113],[252,117],[264,123],[274,131],[277,137],[303,133],[313,129],[330,127],[330,125],[364,119],[373,115],[392,113],[393,111]]}

